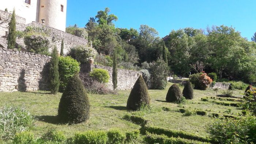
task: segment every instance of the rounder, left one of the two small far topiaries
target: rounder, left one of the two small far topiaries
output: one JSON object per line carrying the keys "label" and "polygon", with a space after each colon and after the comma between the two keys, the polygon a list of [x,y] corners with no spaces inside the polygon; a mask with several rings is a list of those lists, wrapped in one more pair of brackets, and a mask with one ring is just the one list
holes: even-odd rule
{"label": "rounder, left one of the two small far topiaries", "polygon": [[177,84],[173,84],[166,95],[166,101],[167,102],[176,102],[179,101],[182,97],[180,88],[177,86]]}

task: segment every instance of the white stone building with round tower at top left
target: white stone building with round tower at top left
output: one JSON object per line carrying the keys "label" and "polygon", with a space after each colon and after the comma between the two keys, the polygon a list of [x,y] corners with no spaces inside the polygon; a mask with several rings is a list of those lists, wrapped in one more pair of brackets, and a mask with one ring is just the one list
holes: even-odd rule
{"label": "white stone building with round tower at top left", "polygon": [[12,11],[25,18],[26,24],[42,23],[55,29],[65,31],[67,0],[0,0],[0,10]]}

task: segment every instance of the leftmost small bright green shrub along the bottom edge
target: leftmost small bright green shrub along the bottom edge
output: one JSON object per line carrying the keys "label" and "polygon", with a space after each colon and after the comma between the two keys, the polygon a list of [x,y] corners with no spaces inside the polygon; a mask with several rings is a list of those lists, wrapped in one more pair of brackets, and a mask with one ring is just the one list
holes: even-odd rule
{"label": "leftmost small bright green shrub along the bottom edge", "polygon": [[14,144],[31,144],[34,142],[34,134],[28,131],[16,133],[13,143]]}

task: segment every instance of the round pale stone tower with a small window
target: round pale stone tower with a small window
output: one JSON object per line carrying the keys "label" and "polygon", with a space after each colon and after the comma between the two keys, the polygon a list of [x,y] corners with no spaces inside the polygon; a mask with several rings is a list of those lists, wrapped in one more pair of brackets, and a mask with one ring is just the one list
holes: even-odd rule
{"label": "round pale stone tower with a small window", "polygon": [[66,29],[67,0],[40,0],[38,22],[55,29]]}

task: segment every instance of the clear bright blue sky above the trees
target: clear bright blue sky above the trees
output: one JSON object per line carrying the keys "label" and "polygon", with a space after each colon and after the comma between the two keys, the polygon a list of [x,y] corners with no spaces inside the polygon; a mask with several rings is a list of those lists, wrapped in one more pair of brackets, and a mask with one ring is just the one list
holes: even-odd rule
{"label": "clear bright blue sky above the trees", "polygon": [[256,0],[68,0],[66,25],[84,27],[99,10],[110,8],[119,28],[147,24],[159,37],[185,27],[233,26],[251,41],[256,32]]}

